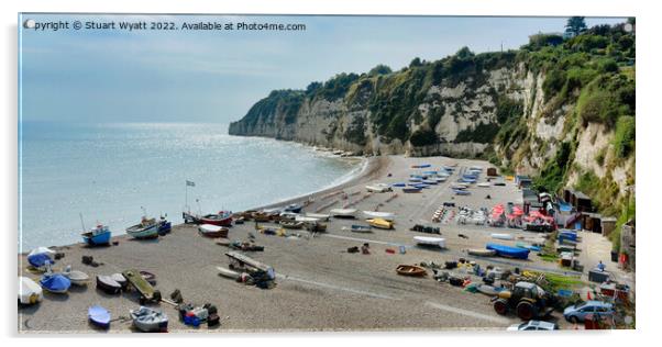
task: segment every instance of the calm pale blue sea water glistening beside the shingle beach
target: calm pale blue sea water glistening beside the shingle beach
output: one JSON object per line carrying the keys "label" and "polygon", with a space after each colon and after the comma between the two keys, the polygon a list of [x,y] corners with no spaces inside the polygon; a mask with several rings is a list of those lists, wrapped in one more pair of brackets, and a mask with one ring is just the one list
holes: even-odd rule
{"label": "calm pale blue sea water glistening beside the shingle beach", "polygon": [[[23,123],[19,251],[113,234],[151,216],[241,211],[316,191],[360,171],[357,160],[302,145],[228,135],[223,124]],[[196,202],[199,200],[199,202]]]}

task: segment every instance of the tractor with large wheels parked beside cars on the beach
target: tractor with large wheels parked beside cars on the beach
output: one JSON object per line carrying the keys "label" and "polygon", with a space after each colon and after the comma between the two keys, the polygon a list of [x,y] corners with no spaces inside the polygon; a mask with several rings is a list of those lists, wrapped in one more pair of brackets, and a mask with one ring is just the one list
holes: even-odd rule
{"label": "tractor with large wheels parked beside cars on the beach", "polygon": [[505,315],[514,311],[522,321],[548,316],[554,310],[542,288],[531,282],[517,282],[512,290],[505,290],[493,298],[494,311]]}

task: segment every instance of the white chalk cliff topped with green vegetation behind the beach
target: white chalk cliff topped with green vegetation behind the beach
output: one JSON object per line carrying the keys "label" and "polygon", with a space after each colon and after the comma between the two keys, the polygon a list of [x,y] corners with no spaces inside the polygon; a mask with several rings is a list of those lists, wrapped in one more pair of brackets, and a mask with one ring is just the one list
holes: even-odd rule
{"label": "white chalk cliff topped with green vegetation behind the beach", "polygon": [[633,37],[618,26],[552,36],[274,91],[230,134],[363,155],[484,157],[549,190],[622,202],[635,181]]}

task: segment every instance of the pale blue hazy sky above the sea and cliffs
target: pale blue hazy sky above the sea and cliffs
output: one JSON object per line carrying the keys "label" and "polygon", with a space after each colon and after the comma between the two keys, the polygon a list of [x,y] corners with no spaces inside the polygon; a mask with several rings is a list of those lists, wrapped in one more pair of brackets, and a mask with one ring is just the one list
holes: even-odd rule
{"label": "pale blue hazy sky above the sea and cliffs", "polygon": [[[241,119],[274,89],[304,89],[339,72],[394,70],[415,57],[437,60],[462,46],[518,48],[566,18],[250,16],[23,14],[57,31],[19,26],[23,121],[208,122]],[[74,30],[74,21],[115,30]],[[118,29],[119,22],[173,22],[179,30]],[[587,18],[588,26],[625,19]],[[183,23],[305,24],[304,31],[186,31]],[[41,26],[40,26],[41,27]]]}

